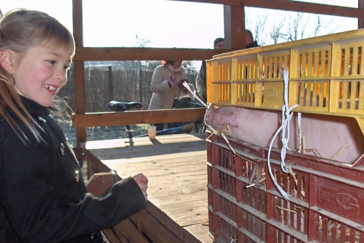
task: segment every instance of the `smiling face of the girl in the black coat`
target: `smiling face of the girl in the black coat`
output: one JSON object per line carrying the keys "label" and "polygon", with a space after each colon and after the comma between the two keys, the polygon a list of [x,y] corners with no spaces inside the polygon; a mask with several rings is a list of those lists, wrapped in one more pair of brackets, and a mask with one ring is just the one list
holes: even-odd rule
{"label": "smiling face of the girl in the black coat", "polygon": [[30,48],[12,75],[19,94],[48,107],[54,96],[66,85],[72,54],[66,49]]}

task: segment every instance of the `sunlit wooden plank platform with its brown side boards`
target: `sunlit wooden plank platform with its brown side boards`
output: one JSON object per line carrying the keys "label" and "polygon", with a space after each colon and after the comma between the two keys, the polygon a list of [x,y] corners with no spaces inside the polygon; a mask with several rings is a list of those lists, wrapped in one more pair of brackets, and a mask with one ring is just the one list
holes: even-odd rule
{"label": "sunlit wooden plank platform with its brown side boards", "polygon": [[116,170],[121,178],[143,172],[147,208],[105,231],[111,243],[212,243],[208,229],[206,135],[89,141],[89,176]]}

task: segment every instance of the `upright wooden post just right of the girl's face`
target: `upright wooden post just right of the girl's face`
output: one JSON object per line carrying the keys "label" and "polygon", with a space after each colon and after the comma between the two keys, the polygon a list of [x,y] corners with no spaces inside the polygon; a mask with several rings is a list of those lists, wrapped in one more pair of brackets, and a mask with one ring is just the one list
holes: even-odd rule
{"label": "upright wooden post just right of the girl's face", "polygon": [[[75,37],[76,48],[83,47],[83,17],[82,0],[73,0],[73,35]],[[85,114],[85,83],[84,83],[84,63],[75,62],[75,92],[76,92],[76,114]],[[76,129],[77,147],[81,142],[86,142],[86,128]]]}

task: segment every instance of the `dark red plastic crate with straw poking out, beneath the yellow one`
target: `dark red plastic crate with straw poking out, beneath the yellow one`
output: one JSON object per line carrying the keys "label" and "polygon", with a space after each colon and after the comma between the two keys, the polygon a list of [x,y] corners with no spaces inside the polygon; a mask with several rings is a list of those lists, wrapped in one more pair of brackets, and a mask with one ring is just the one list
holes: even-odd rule
{"label": "dark red plastic crate with straw poking out, beneath the yellow one", "polygon": [[[209,142],[209,228],[215,241],[267,243],[364,243],[364,168],[213,135]],[[210,150],[209,150],[210,149]],[[264,180],[265,178],[265,180]],[[211,184],[210,184],[211,182]],[[211,216],[210,216],[211,214]]]}

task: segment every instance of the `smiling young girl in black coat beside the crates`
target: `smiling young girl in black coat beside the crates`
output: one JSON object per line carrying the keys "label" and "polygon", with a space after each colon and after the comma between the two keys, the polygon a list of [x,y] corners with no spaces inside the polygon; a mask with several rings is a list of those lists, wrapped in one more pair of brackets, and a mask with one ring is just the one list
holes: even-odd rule
{"label": "smiling young girl in black coat beside the crates", "polygon": [[75,51],[47,14],[0,19],[0,242],[104,242],[100,230],[146,207],[137,174],[102,196],[89,193],[66,136],[52,119]]}

